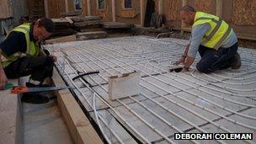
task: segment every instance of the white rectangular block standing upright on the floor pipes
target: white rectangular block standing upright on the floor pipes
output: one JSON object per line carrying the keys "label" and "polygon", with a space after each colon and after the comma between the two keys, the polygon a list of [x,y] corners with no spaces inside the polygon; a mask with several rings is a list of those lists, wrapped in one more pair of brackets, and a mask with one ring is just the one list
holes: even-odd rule
{"label": "white rectangular block standing upright on the floor pipes", "polygon": [[121,77],[109,77],[109,99],[121,99],[140,93],[141,72],[124,73]]}

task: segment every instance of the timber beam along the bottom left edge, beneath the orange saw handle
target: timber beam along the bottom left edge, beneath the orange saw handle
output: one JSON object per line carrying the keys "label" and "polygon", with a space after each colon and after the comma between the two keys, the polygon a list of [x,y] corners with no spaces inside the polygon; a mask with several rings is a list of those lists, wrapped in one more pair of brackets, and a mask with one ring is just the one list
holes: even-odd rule
{"label": "timber beam along the bottom left edge, beneath the orange saw handle", "polygon": [[[9,80],[8,83],[18,85],[18,79]],[[22,143],[20,99],[17,94],[11,94],[10,89],[0,92],[0,143]]]}

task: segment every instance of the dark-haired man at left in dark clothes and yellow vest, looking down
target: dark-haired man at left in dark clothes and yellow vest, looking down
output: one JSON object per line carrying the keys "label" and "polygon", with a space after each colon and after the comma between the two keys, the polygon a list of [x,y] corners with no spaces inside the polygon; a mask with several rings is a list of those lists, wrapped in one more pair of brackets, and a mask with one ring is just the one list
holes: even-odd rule
{"label": "dark-haired man at left in dark clothes and yellow vest, looking down", "polygon": [[[51,36],[54,24],[51,19],[38,19],[34,23],[21,24],[14,28],[0,43],[0,89],[8,78],[31,75],[26,86],[44,87],[46,77],[52,77],[56,56],[40,48],[40,40]],[[24,93],[23,102],[42,104],[49,101],[40,93]]]}

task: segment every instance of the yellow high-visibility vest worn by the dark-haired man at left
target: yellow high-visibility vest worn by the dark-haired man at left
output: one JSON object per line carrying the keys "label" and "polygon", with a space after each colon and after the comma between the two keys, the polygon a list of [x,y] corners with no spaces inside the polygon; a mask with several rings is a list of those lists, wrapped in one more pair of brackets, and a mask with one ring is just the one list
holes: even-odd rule
{"label": "yellow high-visibility vest worn by the dark-haired man at left", "polygon": [[[30,40],[29,37],[29,31],[30,31],[30,24],[21,24],[18,27],[14,28],[12,31],[18,31],[22,32],[25,35],[26,44],[27,44],[27,50],[25,53],[22,52],[16,52],[11,56],[6,56],[4,53],[2,53],[2,66],[8,67],[10,63],[13,61],[16,61],[19,59],[19,57],[22,56],[38,56],[39,55],[39,41],[34,42],[33,40]],[[7,36],[8,37],[8,36]]]}

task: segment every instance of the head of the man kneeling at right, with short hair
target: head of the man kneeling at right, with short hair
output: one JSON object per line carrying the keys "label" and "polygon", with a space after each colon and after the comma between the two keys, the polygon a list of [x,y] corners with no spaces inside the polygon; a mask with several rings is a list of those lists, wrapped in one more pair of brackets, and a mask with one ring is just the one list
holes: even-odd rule
{"label": "head of the man kneeling at right, with short hair", "polygon": [[185,5],[184,7],[180,8],[179,10],[180,18],[184,21],[184,24],[187,24],[188,26],[194,24],[195,19],[195,8]]}

